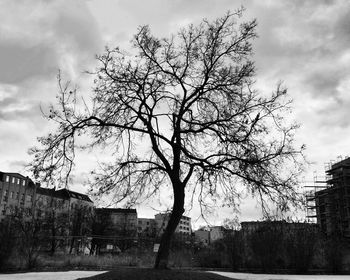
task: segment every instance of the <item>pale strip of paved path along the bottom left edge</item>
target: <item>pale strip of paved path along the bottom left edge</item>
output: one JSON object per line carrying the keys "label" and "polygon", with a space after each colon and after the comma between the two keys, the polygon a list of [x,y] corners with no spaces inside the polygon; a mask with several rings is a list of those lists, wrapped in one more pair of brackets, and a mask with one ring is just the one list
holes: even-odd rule
{"label": "pale strip of paved path along the bottom left edge", "polygon": [[0,280],[75,280],[94,276],[105,271],[60,271],[60,272],[27,272],[0,274]]}

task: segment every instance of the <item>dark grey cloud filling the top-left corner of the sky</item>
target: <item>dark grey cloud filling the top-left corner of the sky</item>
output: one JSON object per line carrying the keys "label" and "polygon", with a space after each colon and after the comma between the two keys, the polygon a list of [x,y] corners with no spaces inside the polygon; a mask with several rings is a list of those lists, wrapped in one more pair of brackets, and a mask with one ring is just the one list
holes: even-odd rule
{"label": "dark grey cloud filling the top-left corner of the sky", "polygon": [[52,77],[59,68],[73,75],[103,46],[84,1],[3,1],[0,10],[0,82]]}

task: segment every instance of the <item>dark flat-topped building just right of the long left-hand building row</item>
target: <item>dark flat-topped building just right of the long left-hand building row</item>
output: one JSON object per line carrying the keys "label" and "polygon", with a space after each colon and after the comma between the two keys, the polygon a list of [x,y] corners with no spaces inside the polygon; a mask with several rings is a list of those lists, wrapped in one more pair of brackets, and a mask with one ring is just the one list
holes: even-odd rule
{"label": "dark flat-topped building just right of the long left-hand building row", "polygon": [[137,235],[136,209],[96,208],[96,216],[109,220],[110,225],[106,229],[108,235],[127,237]]}

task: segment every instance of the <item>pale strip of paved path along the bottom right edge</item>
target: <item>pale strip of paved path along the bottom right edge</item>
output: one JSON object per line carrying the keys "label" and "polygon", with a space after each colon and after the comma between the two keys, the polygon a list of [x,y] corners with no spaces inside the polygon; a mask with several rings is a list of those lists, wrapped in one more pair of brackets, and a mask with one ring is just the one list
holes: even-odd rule
{"label": "pale strip of paved path along the bottom right edge", "polygon": [[350,280],[350,275],[283,275],[210,271],[239,280]]}

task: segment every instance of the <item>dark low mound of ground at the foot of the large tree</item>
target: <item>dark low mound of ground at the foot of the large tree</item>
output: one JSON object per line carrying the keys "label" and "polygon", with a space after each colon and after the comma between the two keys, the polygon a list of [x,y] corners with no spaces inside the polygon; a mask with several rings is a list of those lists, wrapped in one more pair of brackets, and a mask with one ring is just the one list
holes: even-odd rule
{"label": "dark low mound of ground at the foot of the large tree", "polygon": [[228,280],[210,272],[191,270],[155,270],[151,268],[122,267],[100,275],[80,278],[89,280]]}

